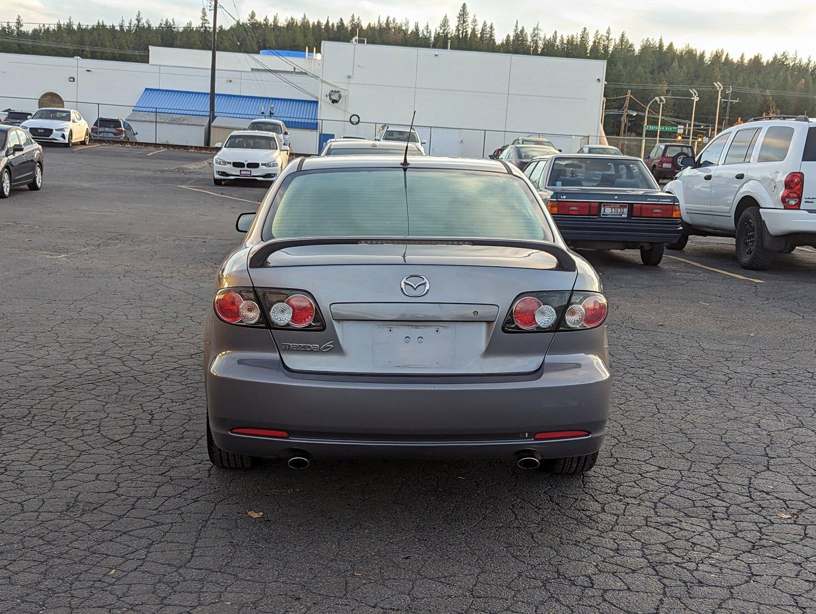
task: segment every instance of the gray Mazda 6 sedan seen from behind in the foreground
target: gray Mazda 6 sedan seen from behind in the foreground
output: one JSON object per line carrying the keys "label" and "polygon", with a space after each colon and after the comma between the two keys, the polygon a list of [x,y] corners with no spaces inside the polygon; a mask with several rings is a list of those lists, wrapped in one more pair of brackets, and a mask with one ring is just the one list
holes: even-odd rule
{"label": "gray Mazda 6 sedan seen from behind in the foreground", "polygon": [[220,267],[204,342],[216,466],[595,464],[606,299],[517,168],[300,158],[237,229],[246,239]]}

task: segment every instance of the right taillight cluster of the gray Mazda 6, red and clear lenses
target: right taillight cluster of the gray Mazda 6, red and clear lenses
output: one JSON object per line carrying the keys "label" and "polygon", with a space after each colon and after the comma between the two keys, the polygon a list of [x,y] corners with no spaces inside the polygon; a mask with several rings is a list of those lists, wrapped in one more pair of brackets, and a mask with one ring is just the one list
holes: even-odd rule
{"label": "right taillight cluster of the gray Mazda 6, red and clear lenses", "polygon": [[606,319],[606,298],[596,292],[529,292],[512,303],[505,333],[593,329]]}

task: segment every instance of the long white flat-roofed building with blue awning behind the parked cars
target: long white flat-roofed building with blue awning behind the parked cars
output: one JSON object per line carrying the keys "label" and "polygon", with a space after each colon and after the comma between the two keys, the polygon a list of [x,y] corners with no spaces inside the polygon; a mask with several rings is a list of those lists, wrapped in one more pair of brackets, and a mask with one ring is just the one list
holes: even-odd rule
{"label": "long white flat-roofed building with blue awning behind the parked cars", "polygon": [[[484,157],[528,134],[546,135],[574,151],[600,134],[601,60],[324,42],[321,53],[299,57],[219,52],[217,65],[216,92],[224,95],[224,104],[242,103],[241,113],[230,116],[221,109],[220,117],[223,112],[249,118],[247,105],[258,107],[258,115],[267,106],[268,113],[268,105],[255,99],[310,109],[302,118],[308,123],[293,136],[296,152],[317,152],[333,135],[374,137],[385,123],[408,124],[414,110],[419,134],[437,155]],[[136,105],[156,91],[166,91],[168,99],[200,99],[210,89],[209,67],[209,51],[153,46],[149,64],[0,54],[6,85],[0,109],[64,105],[89,121],[140,113],[134,117],[142,140],[203,144],[206,122],[197,119],[200,109],[175,110],[180,117],[169,117],[171,109],[157,104],[151,125],[145,105]],[[301,104],[306,101],[311,106]]]}

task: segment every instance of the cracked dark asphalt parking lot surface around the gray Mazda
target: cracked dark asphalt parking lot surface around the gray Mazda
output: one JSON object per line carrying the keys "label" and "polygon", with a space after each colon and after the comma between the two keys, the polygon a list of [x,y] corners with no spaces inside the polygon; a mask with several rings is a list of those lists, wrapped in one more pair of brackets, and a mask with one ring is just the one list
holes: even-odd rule
{"label": "cracked dark asphalt parking lot surface around the gray Mazda", "polygon": [[205,154],[45,157],[0,201],[0,612],[816,610],[816,250],[588,252],[614,391],[583,477],[217,470],[202,330],[264,190],[216,188]]}

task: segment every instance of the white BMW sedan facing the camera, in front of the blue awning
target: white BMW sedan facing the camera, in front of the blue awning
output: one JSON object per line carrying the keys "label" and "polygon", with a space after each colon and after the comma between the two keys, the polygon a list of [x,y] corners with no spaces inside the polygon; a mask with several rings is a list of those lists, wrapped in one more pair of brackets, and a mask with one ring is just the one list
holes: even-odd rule
{"label": "white BMW sedan facing the camera, in front of the blue awning", "polygon": [[226,185],[229,179],[274,181],[289,162],[289,147],[278,135],[260,130],[241,130],[229,135],[215,154],[213,182]]}

